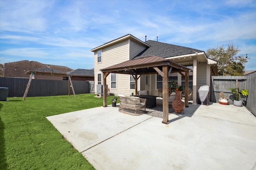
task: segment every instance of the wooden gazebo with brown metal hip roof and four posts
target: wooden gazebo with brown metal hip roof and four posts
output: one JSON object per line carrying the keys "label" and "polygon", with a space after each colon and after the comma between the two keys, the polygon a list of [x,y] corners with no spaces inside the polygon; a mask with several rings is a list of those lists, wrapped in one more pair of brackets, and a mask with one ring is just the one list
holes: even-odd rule
{"label": "wooden gazebo with brown metal hip roof and four posts", "polygon": [[[185,106],[188,107],[188,71],[190,68],[174,63],[169,59],[156,56],[144,56],[140,59],[129,60],[101,69],[103,73],[103,107],[107,107],[106,78],[110,73],[131,74],[135,79],[135,95],[137,95],[137,81],[144,74],[160,74],[163,78],[163,121],[168,124],[168,75],[179,72],[185,77]],[[182,74],[185,72],[185,75]]]}

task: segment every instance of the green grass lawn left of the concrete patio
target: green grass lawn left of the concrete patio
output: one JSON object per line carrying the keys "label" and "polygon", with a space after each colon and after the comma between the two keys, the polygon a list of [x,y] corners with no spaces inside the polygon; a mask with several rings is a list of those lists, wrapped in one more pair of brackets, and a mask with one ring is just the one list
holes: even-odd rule
{"label": "green grass lawn left of the concrete patio", "polygon": [[[0,101],[0,169],[84,169],[94,167],[66,141],[46,116],[103,105],[94,94],[7,98]],[[111,96],[107,104],[111,104]]]}

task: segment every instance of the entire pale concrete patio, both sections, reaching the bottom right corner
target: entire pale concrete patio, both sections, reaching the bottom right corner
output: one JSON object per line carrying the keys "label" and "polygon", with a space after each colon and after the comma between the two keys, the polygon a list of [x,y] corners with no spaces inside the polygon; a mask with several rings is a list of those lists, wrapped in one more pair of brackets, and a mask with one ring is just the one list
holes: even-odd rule
{"label": "entire pale concrete patio, both sections, reaching the bottom right corner", "polygon": [[[97,170],[256,169],[256,117],[245,107],[189,105],[184,114],[170,114],[168,125],[158,117],[126,115],[112,107],[56,116],[47,118],[65,137],[71,131],[62,131],[76,124],[76,135],[66,138],[79,143],[80,152]],[[65,123],[70,119],[77,120]],[[87,133],[80,136],[83,131]],[[90,140],[88,132],[107,140]]]}

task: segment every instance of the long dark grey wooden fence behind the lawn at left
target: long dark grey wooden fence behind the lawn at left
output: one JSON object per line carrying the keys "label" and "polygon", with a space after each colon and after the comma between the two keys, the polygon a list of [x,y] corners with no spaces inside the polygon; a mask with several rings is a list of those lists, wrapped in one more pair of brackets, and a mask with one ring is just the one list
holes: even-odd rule
{"label": "long dark grey wooden fence behind the lawn at left", "polygon": [[[0,78],[0,87],[8,87],[8,97],[22,97],[28,84],[28,78]],[[72,81],[76,94],[90,93],[87,81]],[[73,94],[70,90],[70,94]],[[27,97],[68,95],[67,80],[32,79]]]}

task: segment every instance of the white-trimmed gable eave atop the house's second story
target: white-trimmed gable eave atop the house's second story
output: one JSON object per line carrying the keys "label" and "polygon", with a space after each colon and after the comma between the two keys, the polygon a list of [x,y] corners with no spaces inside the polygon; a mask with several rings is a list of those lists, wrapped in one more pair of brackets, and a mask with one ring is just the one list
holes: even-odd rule
{"label": "white-trimmed gable eave atop the house's second story", "polygon": [[107,43],[104,43],[103,45],[100,45],[100,46],[98,46],[98,47],[96,47],[96,48],[94,48],[94,49],[91,49],[91,51],[93,52],[93,51],[102,49],[103,47],[110,46],[110,45],[112,45],[112,44],[114,44],[114,43],[118,43],[118,42],[120,42],[120,41],[124,41],[125,39],[129,39],[129,38],[132,39],[133,41],[136,41],[137,43],[143,44],[145,47],[150,47],[150,45],[148,45],[147,43],[145,43],[145,42],[141,41],[140,39],[134,37],[133,35],[131,35],[131,34],[126,34],[126,35],[124,35],[124,36],[122,36],[122,37],[119,37],[119,38],[117,38],[117,39],[113,39],[113,40],[111,40],[111,41],[108,41]]}

